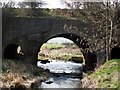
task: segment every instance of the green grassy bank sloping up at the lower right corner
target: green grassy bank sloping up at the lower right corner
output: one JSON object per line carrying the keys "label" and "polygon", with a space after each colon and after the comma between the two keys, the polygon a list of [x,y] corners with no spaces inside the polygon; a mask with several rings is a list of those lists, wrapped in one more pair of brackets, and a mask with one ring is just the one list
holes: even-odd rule
{"label": "green grassy bank sloping up at the lower right corner", "polygon": [[100,68],[82,79],[84,88],[117,88],[120,59],[106,62]]}

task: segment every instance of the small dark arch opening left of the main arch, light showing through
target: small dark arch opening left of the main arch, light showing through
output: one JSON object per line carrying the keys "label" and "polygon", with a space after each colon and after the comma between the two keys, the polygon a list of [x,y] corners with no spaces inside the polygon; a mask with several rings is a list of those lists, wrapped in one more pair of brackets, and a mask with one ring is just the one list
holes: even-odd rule
{"label": "small dark arch opening left of the main arch, light showing through", "polygon": [[24,52],[21,46],[16,44],[8,45],[4,50],[5,59],[24,59]]}

